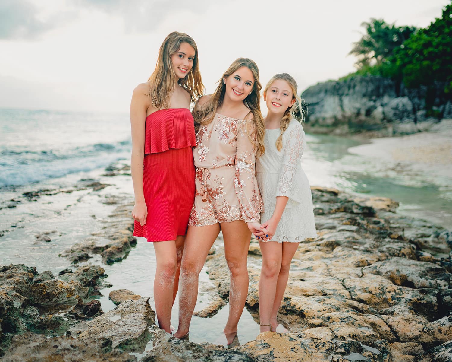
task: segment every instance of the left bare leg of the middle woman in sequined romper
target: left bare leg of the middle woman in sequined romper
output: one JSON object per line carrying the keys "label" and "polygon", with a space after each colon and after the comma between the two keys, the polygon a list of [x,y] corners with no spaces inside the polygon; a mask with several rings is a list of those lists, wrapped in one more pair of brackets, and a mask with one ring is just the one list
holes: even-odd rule
{"label": "left bare leg of the middle woman in sequined romper", "polygon": [[179,327],[174,333],[177,338],[184,337],[190,328],[198,298],[199,273],[218,233],[220,224],[188,227],[180,271]]}

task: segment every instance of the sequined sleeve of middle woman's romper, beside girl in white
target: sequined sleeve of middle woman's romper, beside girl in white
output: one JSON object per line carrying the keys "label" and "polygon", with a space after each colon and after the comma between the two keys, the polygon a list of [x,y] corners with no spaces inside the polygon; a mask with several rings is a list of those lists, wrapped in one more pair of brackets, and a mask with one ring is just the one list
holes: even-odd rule
{"label": "sequined sleeve of middle woman's romper, beside girl in white", "polygon": [[[239,199],[240,212],[245,222],[258,221],[263,209],[254,170],[256,147],[248,137],[250,122],[239,121],[237,125],[237,152],[235,154],[234,188]],[[254,139],[255,141],[255,139]]]}

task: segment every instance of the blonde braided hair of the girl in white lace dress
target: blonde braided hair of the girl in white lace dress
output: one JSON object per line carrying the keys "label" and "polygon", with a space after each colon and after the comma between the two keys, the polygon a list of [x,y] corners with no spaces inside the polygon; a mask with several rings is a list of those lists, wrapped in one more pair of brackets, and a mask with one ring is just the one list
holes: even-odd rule
{"label": "blonde braided hair of the girl in white lace dress", "polygon": [[282,134],[286,131],[287,127],[289,127],[290,121],[292,118],[297,119],[300,123],[303,123],[305,119],[306,111],[303,109],[302,106],[302,99],[297,94],[297,82],[290,74],[287,73],[279,73],[275,74],[267,83],[264,89],[264,95],[267,96],[268,89],[272,86],[273,82],[281,79],[283,81],[286,81],[287,84],[290,86],[292,90],[292,100],[295,99],[295,103],[288,107],[287,110],[284,112],[284,115],[282,116],[281,120],[279,121],[279,129],[281,130],[281,133],[276,140],[276,149],[278,151],[281,151],[282,149]]}

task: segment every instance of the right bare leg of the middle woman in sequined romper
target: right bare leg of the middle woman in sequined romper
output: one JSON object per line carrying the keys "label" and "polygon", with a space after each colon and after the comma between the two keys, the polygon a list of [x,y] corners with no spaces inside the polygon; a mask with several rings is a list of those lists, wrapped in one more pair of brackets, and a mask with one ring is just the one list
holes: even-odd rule
{"label": "right bare leg of the middle woman in sequined romper", "polygon": [[229,316],[223,332],[226,335],[227,344],[231,344],[237,334],[237,324],[248,295],[249,280],[246,262],[251,232],[243,220],[222,223],[221,230],[225,244],[226,262],[231,275]]}

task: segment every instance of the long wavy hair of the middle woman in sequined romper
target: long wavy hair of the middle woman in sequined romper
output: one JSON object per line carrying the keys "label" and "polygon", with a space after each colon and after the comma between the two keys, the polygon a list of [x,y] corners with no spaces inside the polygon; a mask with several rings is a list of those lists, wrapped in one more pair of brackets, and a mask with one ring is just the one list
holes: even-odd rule
{"label": "long wavy hair of the middle woman in sequined romper", "polygon": [[262,117],[262,113],[260,111],[260,103],[259,103],[259,92],[262,89],[262,85],[259,82],[259,68],[256,63],[249,58],[237,58],[234,62],[226,69],[226,71],[221,76],[220,80],[217,81],[218,86],[215,92],[213,92],[210,100],[202,107],[195,106],[193,109],[193,118],[195,120],[195,129],[199,130],[201,126],[209,124],[212,122],[215,113],[217,112],[217,108],[221,106],[223,103],[224,95],[226,93],[226,85],[223,83],[223,78],[230,76],[232,73],[237,71],[237,69],[241,67],[247,67],[253,73],[254,77],[254,85],[253,90],[250,95],[247,95],[243,103],[250,109],[253,114],[253,125],[254,131],[252,134],[248,133],[248,136],[253,141],[252,136],[255,136],[256,141],[254,145],[257,148],[256,157],[260,157],[265,152],[264,146],[264,133],[265,133],[265,124],[264,117]]}

